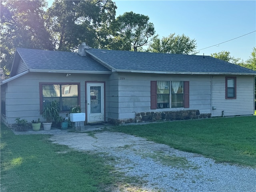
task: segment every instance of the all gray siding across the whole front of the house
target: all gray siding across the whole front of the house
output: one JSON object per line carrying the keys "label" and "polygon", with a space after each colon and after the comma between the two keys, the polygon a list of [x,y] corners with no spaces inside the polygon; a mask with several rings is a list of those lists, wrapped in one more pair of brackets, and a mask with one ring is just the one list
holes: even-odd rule
{"label": "all gray siding across the whole front of the house", "polygon": [[[150,81],[189,81],[190,107],[150,109]],[[237,76],[237,98],[225,99],[225,76],[114,73],[112,75],[28,73],[6,87],[6,118],[8,124],[16,118],[28,122],[40,118],[39,82],[80,83],[80,104],[86,112],[85,82],[105,82],[105,120],[135,118],[136,112],[200,110],[212,116],[250,115],[254,113],[254,76]],[[212,106],[216,108],[212,110]],[[65,115],[65,114],[63,114]]]}

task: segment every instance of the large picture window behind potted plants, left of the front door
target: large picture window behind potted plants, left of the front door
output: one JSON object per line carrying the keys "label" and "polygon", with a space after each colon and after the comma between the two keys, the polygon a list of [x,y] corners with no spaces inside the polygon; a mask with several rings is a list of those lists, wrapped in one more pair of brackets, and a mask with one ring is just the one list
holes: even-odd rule
{"label": "large picture window behind potted plants, left of the front door", "polygon": [[72,106],[79,105],[80,84],[40,83],[40,107],[56,100],[60,111],[69,111]]}

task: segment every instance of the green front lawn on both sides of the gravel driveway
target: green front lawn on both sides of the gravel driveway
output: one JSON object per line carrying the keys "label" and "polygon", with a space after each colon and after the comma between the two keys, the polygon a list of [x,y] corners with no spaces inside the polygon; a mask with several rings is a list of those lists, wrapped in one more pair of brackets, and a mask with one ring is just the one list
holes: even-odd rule
{"label": "green front lawn on both sides of the gravel driveway", "polygon": [[[107,130],[141,136],[217,162],[256,167],[256,116],[116,126]],[[114,160],[53,144],[49,137],[14,135],[1,124],[1,191],[104,192],[111,191],[110,186],[125,185],[123,173],[106,164]]]}

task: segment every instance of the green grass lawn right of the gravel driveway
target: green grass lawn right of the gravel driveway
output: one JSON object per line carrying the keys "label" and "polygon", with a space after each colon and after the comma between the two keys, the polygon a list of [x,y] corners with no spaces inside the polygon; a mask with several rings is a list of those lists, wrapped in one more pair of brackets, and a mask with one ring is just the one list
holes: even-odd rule
{"label": "green grass lawn right of the gravel driveway", "polygon": [[108,130],[202,154],[216,162],[256,168],[256,116],[116,126]]}

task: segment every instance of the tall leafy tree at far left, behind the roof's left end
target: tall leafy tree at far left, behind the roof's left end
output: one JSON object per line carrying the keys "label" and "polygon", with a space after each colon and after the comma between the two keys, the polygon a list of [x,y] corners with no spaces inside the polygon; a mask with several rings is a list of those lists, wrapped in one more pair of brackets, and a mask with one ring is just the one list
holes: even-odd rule
{"label": "tall leafy tree at far left, behind the roof's left end", "polygon": [[44,24],[45,0],[1,0],[1,68],[10,72],[17,47],[53,50],[54,44]]}

